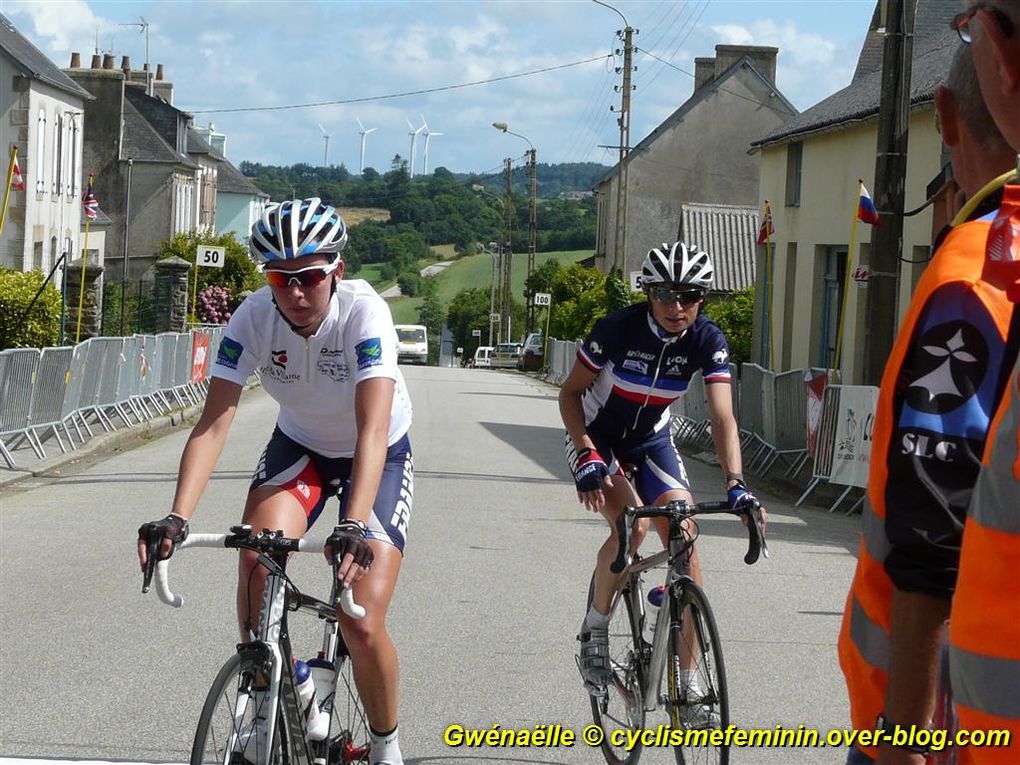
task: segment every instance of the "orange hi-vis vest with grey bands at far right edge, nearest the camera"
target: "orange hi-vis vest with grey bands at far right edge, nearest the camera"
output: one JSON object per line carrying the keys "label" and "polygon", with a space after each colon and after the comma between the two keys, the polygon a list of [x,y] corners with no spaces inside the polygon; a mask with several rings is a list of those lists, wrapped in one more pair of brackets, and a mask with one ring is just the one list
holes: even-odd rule
{"label": "orange hi-vis vest with grey bands at far right edge, nearest the camera", "polygon": [[[1005,225],[1004,217],[1020,224],[1020,187],[1007,188],[999,217]],[[1020,225],[1013,227],[1015,248]],[[989,240],[989,258],[990,250]],[[1009,267],[1020,275],[1015,260]],[[1011,344],[1020,343],[1018,327],[1014,323]],[[1020,763],[1020,362],[992,422],[964,526],[950,613],[950,673],[961,729],[1011,736],[1005,748],[962,748],[959,762]]]}

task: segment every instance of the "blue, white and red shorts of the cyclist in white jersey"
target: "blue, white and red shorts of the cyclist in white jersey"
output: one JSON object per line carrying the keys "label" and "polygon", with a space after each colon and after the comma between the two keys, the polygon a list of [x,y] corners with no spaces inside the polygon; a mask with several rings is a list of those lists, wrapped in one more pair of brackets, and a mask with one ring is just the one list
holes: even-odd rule
{"label": "blue, white and red shorts of the cyclist in white jersey", "polygon": [[[279,487],[301,503],[308,518],[308,528],[318,518],[330,497],[340,497],[340,518],[347,517],[350,493],[351,457],[323,457],[286,436],[278,427],[262,453],[248,491],[261,486]],[[387,450],[379,491],[375,495],[372,516],[368,519],[370,540],[387,542],[401,553],[407,540],[414,494],[414,463],[407,436]]]}

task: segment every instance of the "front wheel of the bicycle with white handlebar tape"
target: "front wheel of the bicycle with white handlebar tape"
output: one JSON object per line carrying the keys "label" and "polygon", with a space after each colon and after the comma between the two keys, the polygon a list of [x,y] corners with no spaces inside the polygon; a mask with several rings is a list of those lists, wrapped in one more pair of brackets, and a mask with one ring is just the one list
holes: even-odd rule
{"label": "front wheel of the bicycle with white handlebar tape", "polygon": [[[255,692],[257,675],[255,663],[242,658],[240,654],[232,656],[216,674],[195,730],[191,765],[221,765],[224,762],[231,765],[261,765],[265,761],[265,742],[259,740],[256,719],[259,711],[267,708],[268,699],[258,697]],[[242,710],[240,713],[239,709]],[[270,765],[284,762],[279,746],[283,724],[283,717],[279,716],[273,735]],[[225,755],[228,750],[231,757],[227,759]]]}

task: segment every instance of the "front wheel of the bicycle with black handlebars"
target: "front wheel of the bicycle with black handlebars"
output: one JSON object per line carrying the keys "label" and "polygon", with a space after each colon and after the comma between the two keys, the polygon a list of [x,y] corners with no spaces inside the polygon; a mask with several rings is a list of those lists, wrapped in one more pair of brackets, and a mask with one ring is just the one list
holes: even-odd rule
{"label": "front wheel of the bicycle with black handlebars", "polygon": [[[691,683],[684,683],[680,674],[685,654],[697,655],[696,681]],[[670,725],[705,731],[705,746],[673,748],[677,765],[728,765],[729,747],[712,747],[707,743],[709,730],[725,730],[729,725],[722,644],[708,598],[693,581],[684,584],[678,599],[671,599],[669,653],[664,674]]]}

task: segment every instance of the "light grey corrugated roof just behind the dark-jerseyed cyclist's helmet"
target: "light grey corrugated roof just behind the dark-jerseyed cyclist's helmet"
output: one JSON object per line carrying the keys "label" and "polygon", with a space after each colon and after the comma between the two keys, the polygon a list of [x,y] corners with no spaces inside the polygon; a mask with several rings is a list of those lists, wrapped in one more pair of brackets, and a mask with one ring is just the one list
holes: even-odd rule
{"label": "light grey corrugated roof just behind the dark-jerseyed cyclist's helmet", "polygon": [[684,203],[679,236],[712,255],[713,292],[734,292],[755,284],[756,208]]}

